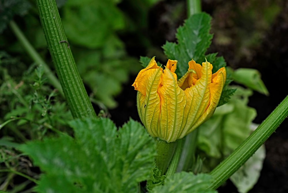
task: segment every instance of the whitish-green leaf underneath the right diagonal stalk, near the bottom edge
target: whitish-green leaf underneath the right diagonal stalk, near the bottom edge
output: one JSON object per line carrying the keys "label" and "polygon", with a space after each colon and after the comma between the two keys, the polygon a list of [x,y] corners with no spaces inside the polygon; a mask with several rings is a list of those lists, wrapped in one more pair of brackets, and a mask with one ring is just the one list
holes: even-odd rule
{"label": "whitish-green leaf underneath the right diagonal stalk, near the bottom edge", "polygon": [[257,183],[265,159],[265,147],[262,145],[247,162],[231,177],[238,192],[247,193]]}

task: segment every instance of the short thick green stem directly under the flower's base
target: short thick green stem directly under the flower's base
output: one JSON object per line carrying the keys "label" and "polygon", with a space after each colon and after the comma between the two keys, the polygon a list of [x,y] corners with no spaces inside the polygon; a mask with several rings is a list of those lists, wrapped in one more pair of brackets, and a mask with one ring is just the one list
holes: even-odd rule
{"label": "short thick green stem directly under the flower's base", "polygon": [[167,143],[164,140],[156,139],[156,151],[155,156],[156,166],[161,170],[162,175],[166,172],[171,159],[174,155],[177,142]]}

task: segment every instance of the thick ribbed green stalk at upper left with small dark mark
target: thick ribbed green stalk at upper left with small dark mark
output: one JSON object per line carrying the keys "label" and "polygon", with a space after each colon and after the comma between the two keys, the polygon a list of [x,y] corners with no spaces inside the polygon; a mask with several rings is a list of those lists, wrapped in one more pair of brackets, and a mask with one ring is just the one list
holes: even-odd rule
{"label": "thick ribbed green stalk at upper left with small dark mark", "polygon": [[96,117],[77,70],[55,0],[36,0],[50,55],[74,118]]}

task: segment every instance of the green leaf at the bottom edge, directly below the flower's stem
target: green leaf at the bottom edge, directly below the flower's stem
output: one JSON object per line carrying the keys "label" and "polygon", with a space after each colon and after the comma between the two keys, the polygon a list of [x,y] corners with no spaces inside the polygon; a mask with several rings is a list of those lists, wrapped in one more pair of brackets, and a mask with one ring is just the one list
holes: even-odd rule
{"label": "green leaf at the bottom edge, directly below the flower's stem", "polygon": [[164,185],[153,189],[154,193],[216,193],[215,190],[207,190],[212,182],[212,177],[208,174],[198,174],[180,172],[167,177]]}

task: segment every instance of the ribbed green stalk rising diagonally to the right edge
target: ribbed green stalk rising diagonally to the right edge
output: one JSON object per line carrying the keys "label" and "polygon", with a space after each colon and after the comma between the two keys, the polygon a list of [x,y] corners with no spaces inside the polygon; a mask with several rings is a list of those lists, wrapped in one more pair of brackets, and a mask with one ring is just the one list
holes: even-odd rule
{"label": "ribbed green stalk rising diagonally to the right edge", "polygon": [[231,155],[211,171],[210,175],[215,180],[209,188],[217,189],[234,174],[268,139],[287,116],[288,95]]}

